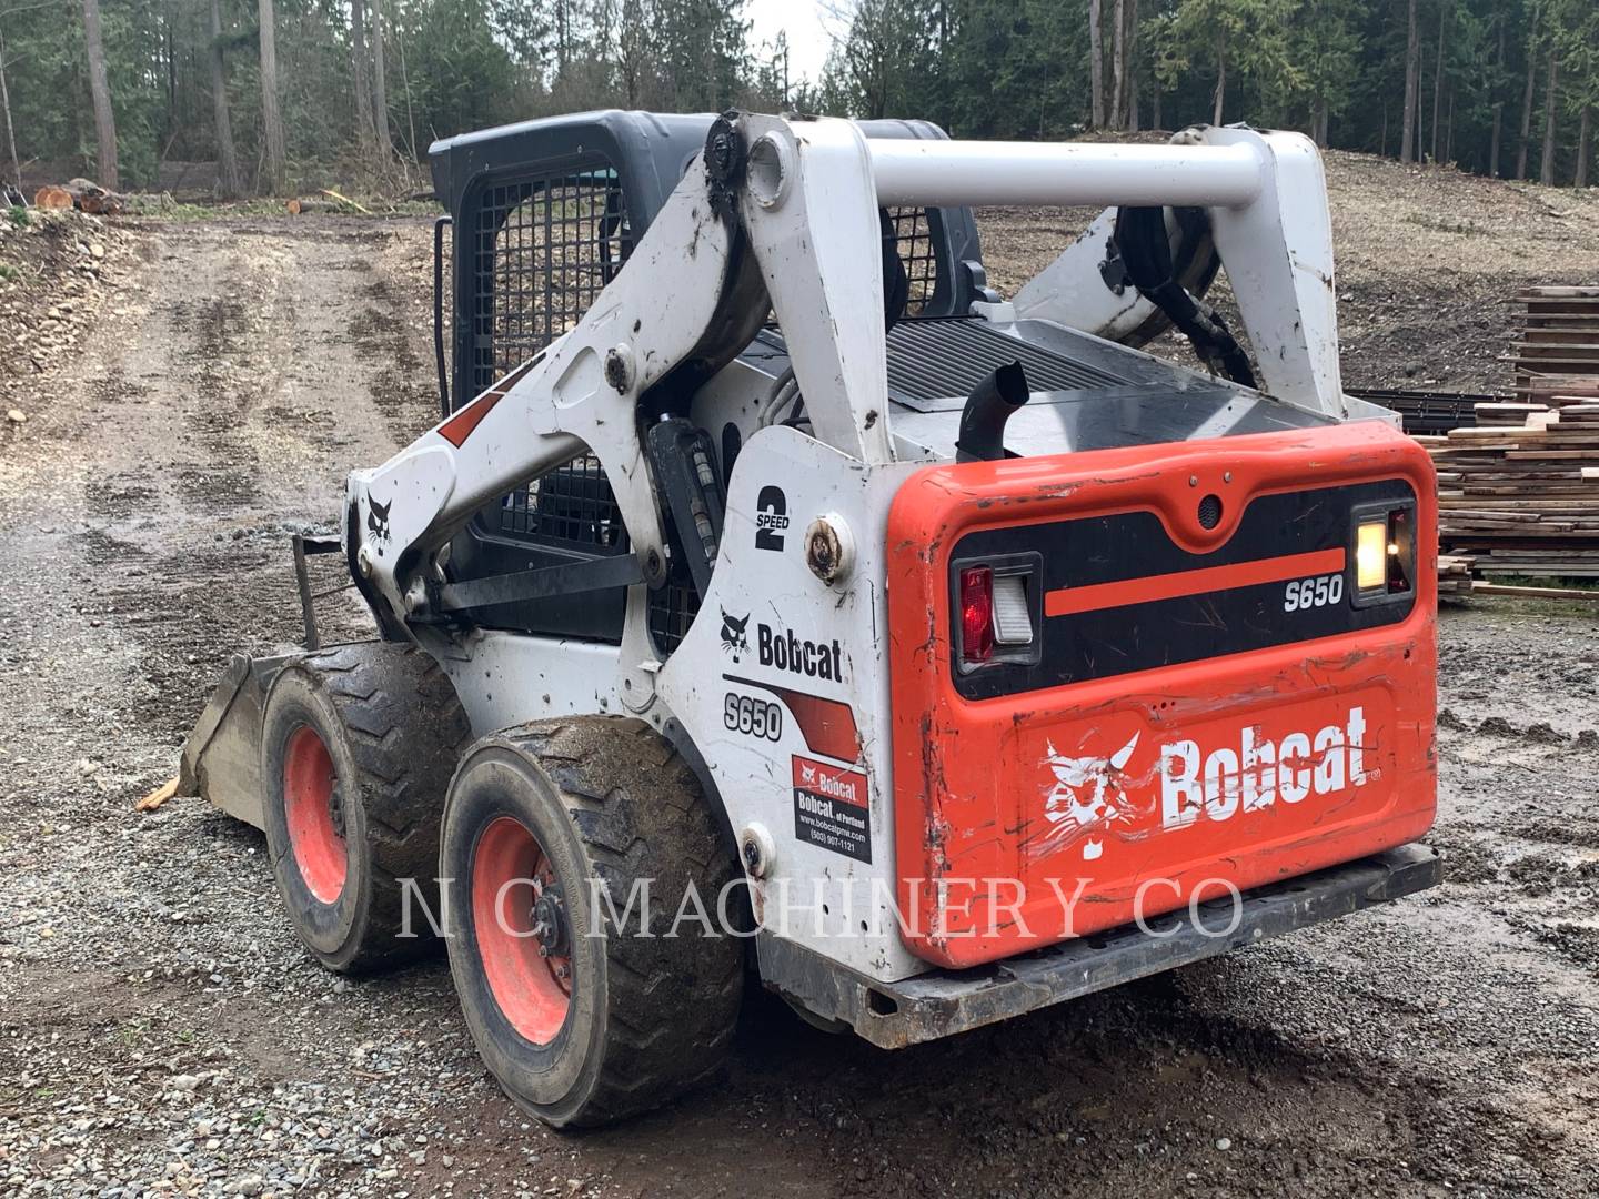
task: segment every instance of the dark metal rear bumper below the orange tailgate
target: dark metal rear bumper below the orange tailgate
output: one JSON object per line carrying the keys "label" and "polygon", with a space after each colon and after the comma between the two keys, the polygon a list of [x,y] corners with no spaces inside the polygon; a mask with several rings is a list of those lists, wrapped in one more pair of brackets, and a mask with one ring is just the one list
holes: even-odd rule
{"label": "dark metal rear bumper below the orange tailgate", "polygon": [[[1414,895],[1438,886],[1442,873],[1438,850],[1399,846],[1244,892],[1238,927],[1226,935],[1201,930],[1185,908],[1146,921],[1150,932],[1124,924],[991,966],[899,983],[873,982],[763,932],[761,975],[809,1012],[847,1023],[883,1049],[902,1049]],[[1233,900],[1201,903],[1198,914],[1206,927],[1225,929]]]}

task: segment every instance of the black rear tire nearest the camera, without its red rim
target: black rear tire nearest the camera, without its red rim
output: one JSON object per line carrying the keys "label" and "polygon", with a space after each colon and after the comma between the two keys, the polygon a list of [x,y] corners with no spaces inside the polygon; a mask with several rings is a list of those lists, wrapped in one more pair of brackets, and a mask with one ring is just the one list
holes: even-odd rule
{"label": "black rear tire nearest the camera, without its red rim", "polygon": [[[571,1001],[542,1046],[500,1010],[477,940],[477,847],[502,815],[534,835],[566,895]],[[550,719],[473,745],[449,788],[440,876],[453,879],[446,938],[467,1026],[529,1114],[553,1127],[608,1124],[689,1090],[724,1062],[745,942],[721,932],[716,902],[742,873],[694,772],[643,721]],[[636,905],[627,918],[633,882],[644,878],[652,879],[649,938],[632,935]],[[593,903],[587,879],[603,882],[609,908]],[[684,921],[675,938],[664,937],[689,882],[716,935]],[[728,894],[742,898],[739,887]],[[616,916],[627,919],[627,935]]]}

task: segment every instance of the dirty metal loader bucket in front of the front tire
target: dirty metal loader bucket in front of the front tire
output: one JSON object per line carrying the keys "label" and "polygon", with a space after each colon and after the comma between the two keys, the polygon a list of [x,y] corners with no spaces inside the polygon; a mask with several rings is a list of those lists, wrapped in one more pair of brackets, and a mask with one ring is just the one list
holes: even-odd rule
{"label": "dirty metal loader bucket in front of the front tire", "polygon": [[264,828],[261,716],[267,687],[289,655],[235,654],[184,743],[177,795],[198,795],[232,817]]}

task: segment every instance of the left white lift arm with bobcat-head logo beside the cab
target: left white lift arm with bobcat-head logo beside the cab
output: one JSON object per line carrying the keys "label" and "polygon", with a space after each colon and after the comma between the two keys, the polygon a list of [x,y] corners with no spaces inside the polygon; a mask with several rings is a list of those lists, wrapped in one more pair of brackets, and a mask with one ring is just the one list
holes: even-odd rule
{"label": "left white lift arm with bobcat-head logo beside the cab", "polygon": [[611,564],[609,582],[665,576],[641,404],[649,396],[660,414],[686,411],[768,310],[729,193],[742,165],[731,136],[718,121],[576,328],[384,465],[350,475],[345,552],[384,627],[448,611],[440,555],[449,540],[484,504],[584,452],[600,459],[636,563],[632,577]]}

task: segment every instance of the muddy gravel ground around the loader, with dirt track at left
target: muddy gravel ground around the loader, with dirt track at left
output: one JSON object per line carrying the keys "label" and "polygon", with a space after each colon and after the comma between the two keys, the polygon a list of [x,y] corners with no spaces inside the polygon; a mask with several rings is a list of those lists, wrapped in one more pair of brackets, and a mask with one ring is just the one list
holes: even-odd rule
{"label": "muddy gravel ground around the loader, with dirt track at left", "polygon": [[433,419],[427,225],[125,229],[115,302],[3,380],[0,1191],[1596,1193],[1586,604],[1444,612],[1426,895],[899,1054],[758,1001],[712,1087],[529,1125],[441,961],[323,974],[257,833],[131,811],[229,654],[297,636],[288,534]]}

